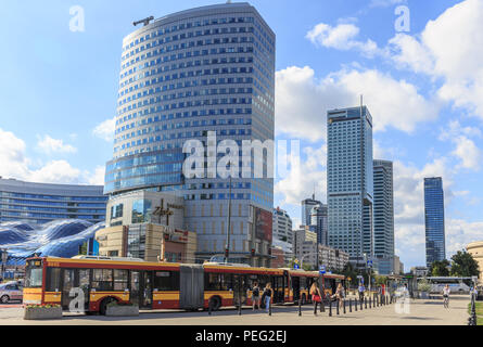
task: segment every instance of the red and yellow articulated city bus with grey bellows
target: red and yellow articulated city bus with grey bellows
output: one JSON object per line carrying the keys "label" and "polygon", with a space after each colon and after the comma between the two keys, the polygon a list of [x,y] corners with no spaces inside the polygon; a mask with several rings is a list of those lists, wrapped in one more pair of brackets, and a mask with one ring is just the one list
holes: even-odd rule
{"label": "red and yellow articulated city bus with grey bellows", "polygon": [[[325,275],[333,291],[341,275]],[[213,309],[252,305],[254,282],[271,283],[274,304],[310,300],[308,290],[317,272],[252,268],[244,265],[183,265],[132,258],[30,258],[26,264],[24,304],[59,304],[68,310],[73,300],[84,311],[105,313],[110,303],[131,303],[141,309]],[[321,283],[320,281],[318,282]],[[295,296],[294,296],[295,293]]]}

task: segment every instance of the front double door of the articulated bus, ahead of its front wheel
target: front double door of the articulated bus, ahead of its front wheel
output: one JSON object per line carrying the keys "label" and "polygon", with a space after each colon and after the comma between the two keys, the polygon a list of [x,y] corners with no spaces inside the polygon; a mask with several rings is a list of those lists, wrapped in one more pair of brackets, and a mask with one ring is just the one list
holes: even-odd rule
{"label": "front double door of the articulated bus, ahead of its front wheel", "polygon": [[[69,309],[71,303],[75,300],[74,309],[85,311],[89,308],[89,283],[90,271],[79,269],[62,269],[62,308]],[[71,291],[73,296],[71,296]],[[79,297],[81,296],[81,298]],[[79,305],[84,301],[84,307]]]}

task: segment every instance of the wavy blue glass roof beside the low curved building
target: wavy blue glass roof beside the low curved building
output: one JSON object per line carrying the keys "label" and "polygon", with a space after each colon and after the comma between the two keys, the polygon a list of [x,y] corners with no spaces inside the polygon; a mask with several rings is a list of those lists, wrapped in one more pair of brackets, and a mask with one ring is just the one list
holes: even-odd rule
{"label": "wavy blue glass roof beside the low curved building", "polygon": [[104,222],[92,224],[77,219],[55,220],[41,226],[0,223],[0,248],[8,250],[7,265],[10,266],[25,265],[25,259],[34,254],[71,258],[102,228],[105,228]]}

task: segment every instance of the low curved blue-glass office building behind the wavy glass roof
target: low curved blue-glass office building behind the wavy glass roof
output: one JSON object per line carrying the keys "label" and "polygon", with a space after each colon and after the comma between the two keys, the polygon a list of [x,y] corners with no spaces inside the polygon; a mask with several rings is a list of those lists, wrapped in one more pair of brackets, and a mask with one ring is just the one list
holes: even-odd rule
{"label": "low curved blue-glass office building behind the wavy glass roof", "polygon": [[42,224],[58,219],[105,219],[102,185],[47,184],[0,177],[0,222]]}

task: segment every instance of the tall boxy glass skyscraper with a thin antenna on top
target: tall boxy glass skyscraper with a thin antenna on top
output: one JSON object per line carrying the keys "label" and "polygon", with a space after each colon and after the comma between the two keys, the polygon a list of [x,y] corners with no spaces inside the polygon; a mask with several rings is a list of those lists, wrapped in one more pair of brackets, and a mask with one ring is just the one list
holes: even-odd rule
{"label": "tall boxy glass skyscraper with a thin antenna on top", "polygon": [[372,116],[366,106],[329,111],[327,128],[329,246],[371,258]]}

